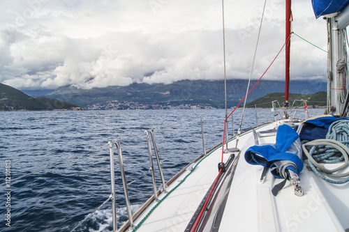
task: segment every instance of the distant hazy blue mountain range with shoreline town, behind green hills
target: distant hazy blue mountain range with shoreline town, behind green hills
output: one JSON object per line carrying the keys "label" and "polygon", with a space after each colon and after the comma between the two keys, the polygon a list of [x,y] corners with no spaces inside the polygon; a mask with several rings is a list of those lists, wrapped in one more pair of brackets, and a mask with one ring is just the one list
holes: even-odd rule
{"label": "distant hazy blue mountain range with shoreline town, behind green hills", "polygon": [[[255,82],[251,82],[250,89]],[[237,105],[244,98],[247,85],[248,80],[227,80],[228,107]],[[262,80],[248,95],[247,102],[284,90],[285,82]],[[319,91],[326,91],[325,82],[306,80],[290,83],[290,93],[298,93],[300,97]],[[224,81],[182,80],[172,84],[134,83],[91,89],[61,86],[46,96],[87,109],[166,109],[185,105],[224,108],[224,92]]]}

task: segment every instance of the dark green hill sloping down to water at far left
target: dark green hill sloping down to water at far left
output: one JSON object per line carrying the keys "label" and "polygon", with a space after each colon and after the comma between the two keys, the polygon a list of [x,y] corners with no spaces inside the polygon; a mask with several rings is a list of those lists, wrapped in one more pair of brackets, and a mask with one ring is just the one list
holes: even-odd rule
{"label": "dark green hill sloping down to water at far left", "polygon": [[0,111],[13,110],[54,110],[54,109],[79,109],[60,100],[50,98],[31,98],[31,96],[6,84],[0,83]]}

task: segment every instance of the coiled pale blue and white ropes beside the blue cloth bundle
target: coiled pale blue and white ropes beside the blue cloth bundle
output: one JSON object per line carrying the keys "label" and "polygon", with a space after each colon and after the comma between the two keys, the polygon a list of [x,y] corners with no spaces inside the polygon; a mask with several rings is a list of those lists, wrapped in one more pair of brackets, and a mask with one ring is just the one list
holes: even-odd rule
{"label": "coiled pale blue and white ropes beside the blue cloth bundle", "polygon": [[[329,183],[343,184],[349,181],[349,171],[343,172],[349,164],[349,121],[339,120],[332,123],[326,139],[316,139],[302,145],[304,154],[308,157],[309,167],[322,180]],[[343,162],[344,161],[344,162]],[[327,169],[320,163],[337,164],[341,166]]]}

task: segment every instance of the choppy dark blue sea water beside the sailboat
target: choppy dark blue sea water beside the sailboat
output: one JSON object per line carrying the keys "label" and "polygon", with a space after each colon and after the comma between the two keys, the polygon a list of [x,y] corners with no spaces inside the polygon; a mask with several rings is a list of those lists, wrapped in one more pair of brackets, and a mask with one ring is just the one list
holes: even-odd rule
{"label": "choppy dark blue sea water beside the sailboat", "polygon": [[[310,109],[309,114],[315,116],[322,111]],[[304,115],[303,112],[299,117]],[[223,139],[225,111],[222,109],[0,112],[0,183],[6,181],[6,160],[10,160],[13,180],[80,155],[10,183],[10,206],[6,206],[6,185],[1,185],[0,231],[72,230],[110,196],[107,142],[116,139],[121,139],[127,182],[140,177],[128,187],[134,212],[152,191],[144,130],[155,130],[167,181],[203,153],[200,116],[208,150]],[[234,114],[235,129],[240,117],[238,110]],[[258,109],[259,124],[272,119],[270,109]],[[255,109],[246,110],[244,121],[242,130],[256,125]],[[231,135],[231,123],[229,129]],[[126,221],[127,213],[117,159],[115,171],[121,224]],[[8,208],[10,227],[5,220]],[[112,231],[111,213],[108,202],[75,231]]]}

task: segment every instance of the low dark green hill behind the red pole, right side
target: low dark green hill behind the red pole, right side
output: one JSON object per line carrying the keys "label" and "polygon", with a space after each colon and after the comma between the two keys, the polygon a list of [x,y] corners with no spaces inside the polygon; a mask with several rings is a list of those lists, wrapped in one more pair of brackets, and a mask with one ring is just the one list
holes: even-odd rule
{"label": "low dark green hill behind the red pole, right side", "polygon": [[[315,106],[326,106],[326,92],[321,91],[314,94],[299,94],[299,93],[290,93],[288,102],[292,103],[295,100],[308,100],[306,103],[308,107]],[[260,108],[269,108],[272,107],[272,101],[278,100],[280,105],[285,102],[285,93],[269,93],[262,98],[258,98],[246,104],[246,107],[260,107]],[[295,102],[295,107],[301,105],[301,102]],[[303,104],[301,105],[303,106]]]}

